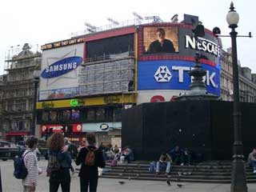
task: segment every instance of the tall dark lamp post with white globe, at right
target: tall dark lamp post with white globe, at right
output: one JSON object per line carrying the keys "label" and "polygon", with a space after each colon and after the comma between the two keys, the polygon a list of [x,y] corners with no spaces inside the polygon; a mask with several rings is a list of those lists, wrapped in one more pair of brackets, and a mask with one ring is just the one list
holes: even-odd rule
{"label": "tall dark lamp post with white globe, at right", "polygon": [[242,153],[242,130],[241,130],[241,112],[239,106],[239,84],[238,84],[238,55],[237,55],[237,32],[239,15],[234,10],[234,4],[231,2],[230,11],[226,14],[226,21],[231,28],[230,37],[232,42],[232,63],[233,63],[233,122],[234,122],[234,144],[233,144],[233,163],[231,174],[231,192],[247,192],[245,164]]}

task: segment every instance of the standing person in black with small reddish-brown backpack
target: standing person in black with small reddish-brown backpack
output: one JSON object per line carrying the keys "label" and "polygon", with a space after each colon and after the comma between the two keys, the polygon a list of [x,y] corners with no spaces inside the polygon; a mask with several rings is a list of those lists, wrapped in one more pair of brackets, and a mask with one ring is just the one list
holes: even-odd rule
{"label": "standing person in black with small reddish-brown backpack", "polygon": [[81,166],[78,176],[80,177],[80,190],[96,192],[98,186],[98,167],[106,166],[102,150],[95,146],[96,138],[93,133],[86,134],[87,146],[82,147],[76,158],[76,164]]}

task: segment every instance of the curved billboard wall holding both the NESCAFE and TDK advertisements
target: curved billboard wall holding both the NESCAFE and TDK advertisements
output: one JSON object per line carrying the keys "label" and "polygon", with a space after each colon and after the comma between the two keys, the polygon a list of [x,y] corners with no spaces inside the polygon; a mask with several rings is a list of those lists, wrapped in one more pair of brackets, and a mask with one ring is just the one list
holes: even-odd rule
{"label": "curved billboard wall holding both the NESCAFE and TDK advertisements", "polygon": [[200,54],[202,68],[206,70],[206,91],[220,95],[221,49],[218,38],[206,29],[205,35],[195,37],[193,29],[194,26],[181,23],[153,23],[139,27],[139,98],[142,94],[159,94],[159,90],[170,90],[170,93],[171,90],[175,93],[190,90],[189,72],[194,66],[196,53]]}

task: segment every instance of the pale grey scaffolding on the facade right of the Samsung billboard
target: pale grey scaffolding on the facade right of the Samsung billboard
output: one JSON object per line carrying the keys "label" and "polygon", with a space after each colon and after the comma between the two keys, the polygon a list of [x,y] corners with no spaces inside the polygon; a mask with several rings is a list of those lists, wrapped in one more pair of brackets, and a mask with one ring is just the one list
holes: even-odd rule
{"label": "pale grey scaffolding on the facade right of the Samsung billboard", "polygon": [[79,94],[124,93],[134,90],[134,56],[130,52],[94,58],[78,74]]}

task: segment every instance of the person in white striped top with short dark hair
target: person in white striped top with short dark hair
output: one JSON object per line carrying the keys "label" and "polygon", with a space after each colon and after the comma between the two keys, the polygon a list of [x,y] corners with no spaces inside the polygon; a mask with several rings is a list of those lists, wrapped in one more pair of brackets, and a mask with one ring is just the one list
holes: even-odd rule
{"label": "person in white striped top with short dark hair", "polygon": [[37,157],[34,154],[34,150],[38,147],[38,138],[30,136],[26,140],[26,146],[23,157],[28,174],[26,178],[22,179],[23,192],[34,192],[38,184],[38,174],[42,174],[42,170],[38,168]]}

